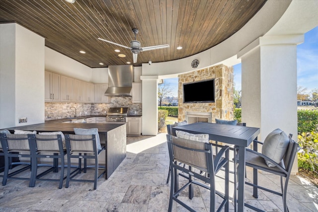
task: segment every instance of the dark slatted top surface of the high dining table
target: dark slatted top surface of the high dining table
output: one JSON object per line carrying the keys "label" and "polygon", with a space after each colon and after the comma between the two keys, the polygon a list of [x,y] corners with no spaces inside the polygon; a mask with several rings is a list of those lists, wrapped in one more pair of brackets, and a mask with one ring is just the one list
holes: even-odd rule
{"label": "dark slatted top surface of the high dining table", "polygon": [[209,134],[209,139],[247,147],[259,134],[259,128],[237,125],[198,122],[178,127],[172,131],[185,131],[192,134]]}

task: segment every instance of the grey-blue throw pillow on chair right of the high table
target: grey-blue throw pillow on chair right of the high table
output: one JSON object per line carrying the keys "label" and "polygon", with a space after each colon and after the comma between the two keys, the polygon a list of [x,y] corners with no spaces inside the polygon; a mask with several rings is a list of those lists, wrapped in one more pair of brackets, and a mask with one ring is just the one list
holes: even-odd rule
{"label": "grey-blue throw pillow on chair right of the high table", "polygon": [[[262,146],[262,154],[274,160],[276,163],[280,163],[285,155],[288,144],[289,138],[286,133],[281,129],[276,129],[265,138]],[[268,167],[275,167],[273,163],[266,160],[265,162]]]}

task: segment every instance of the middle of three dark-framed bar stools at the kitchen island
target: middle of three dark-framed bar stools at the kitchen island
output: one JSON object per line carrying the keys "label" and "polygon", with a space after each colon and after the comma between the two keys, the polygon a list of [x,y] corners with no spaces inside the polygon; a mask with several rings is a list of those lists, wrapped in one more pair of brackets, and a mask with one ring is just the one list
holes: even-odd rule
{"label": "middle of three dark-framed bar stools at the kitchen island", "polygon": [[[36,181],[54,181],[60,182],[59,188],[63,187],[64,177],[64,156],[66,155],[66,148],[63,145],[61,135],[30,135],[30,140],[32,142],[31,152],[32,158],[32,169],[34,167],[34,175],[32,179],[31,187],[35,186]],[[44,159],[46,158],[46,159]],[[52,158],[52,163],[38,163],[38,159],[47,160]],[[61,164],[59,165],[59,160]],[[37,174],[38,167],[49,166],[51,168]],[[59,167],[61,168],[60,179],[43,178],[44,175],[50,172],[58,172]]]}

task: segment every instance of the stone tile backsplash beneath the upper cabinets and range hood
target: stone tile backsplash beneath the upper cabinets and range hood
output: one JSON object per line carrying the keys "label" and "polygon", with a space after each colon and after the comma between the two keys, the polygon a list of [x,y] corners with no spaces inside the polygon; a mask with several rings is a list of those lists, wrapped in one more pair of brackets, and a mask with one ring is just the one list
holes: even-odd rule
{"label": "stone tile backsplash beneath the upper cabinets and range hood", "polygon": [[110,107],[128,107],[129,114],[142,114],[142,103],[132,103],[131,96],[111,97],[111,103],[45,102],[45,121],[74,117],[70,107],[77,109],[77,116],[106,115]]}

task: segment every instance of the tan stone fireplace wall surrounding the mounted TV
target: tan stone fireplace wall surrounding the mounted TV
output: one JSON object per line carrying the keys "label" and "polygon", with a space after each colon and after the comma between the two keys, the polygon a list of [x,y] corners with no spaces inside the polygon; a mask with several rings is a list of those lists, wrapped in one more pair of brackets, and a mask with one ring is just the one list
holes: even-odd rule
{"label": "tan stone fireplace wall surrounding the mounted TV", "polygon": [[[218,65],[180,74],[178,78],[178,122],[185,120],[186,111],[212,112],[212,122],[215,122],[216,118],[225,120],[234,119],[233,67]],[[213,78],[215,78],[215,102],[183,103],[183,83]]]}

